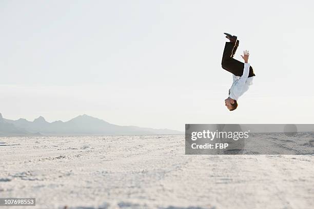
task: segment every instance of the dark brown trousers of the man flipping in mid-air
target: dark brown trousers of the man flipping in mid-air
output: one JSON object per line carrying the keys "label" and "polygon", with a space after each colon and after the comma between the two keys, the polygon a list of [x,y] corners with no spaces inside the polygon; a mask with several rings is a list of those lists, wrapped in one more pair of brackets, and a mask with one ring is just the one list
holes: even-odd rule
{"label": "dark brown trousers of the man flipping in mid-air", "polygon": [[[226,42],[221,65],[223,69],[232,73],[233,75],[242,76],[244,63],[233,58],[235,51],[238,49],[238,46],[239,40],[235,42]],[[255,74],[253,72],[253,68],[250,66],[249,77],[252,76],[255,76]]]}

